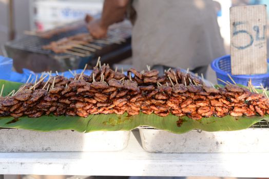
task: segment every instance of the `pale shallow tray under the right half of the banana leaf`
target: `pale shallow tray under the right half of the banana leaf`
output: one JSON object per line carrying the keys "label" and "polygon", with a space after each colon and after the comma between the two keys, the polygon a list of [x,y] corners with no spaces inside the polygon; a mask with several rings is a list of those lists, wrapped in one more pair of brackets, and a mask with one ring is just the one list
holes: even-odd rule
{"label": "pale shallow tray under the right half of the banana leaf", "polygon": [[269,152],[269,128],[175,134],[139,128],[144,150],[154,153]]}

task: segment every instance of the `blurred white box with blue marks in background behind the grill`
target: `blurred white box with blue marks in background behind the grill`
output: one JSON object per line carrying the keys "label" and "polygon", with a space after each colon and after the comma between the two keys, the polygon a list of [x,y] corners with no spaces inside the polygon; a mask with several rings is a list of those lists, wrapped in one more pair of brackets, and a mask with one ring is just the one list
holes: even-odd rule
{"label": "blurred white box with blue marks in background behind the grill", "polygon": [[102,12],[103,0],[72,0],[72,1],[35,1],[33,4],[35,26],[39,30],[54,27],[84,19],[86,14],[97,15]]}

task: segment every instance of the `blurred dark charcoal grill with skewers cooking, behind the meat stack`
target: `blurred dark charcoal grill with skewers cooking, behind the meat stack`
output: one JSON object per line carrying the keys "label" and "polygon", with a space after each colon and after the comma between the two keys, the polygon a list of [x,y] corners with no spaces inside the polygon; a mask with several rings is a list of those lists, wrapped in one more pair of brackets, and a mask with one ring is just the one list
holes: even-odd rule
{"label": "blurred dark charcoal grill with skewers cooking, behind the meat stack", "polygon": [[[5,49],[12,58],[14,68],[22,73],[23,69],[30,69],[34,72],[43,71],[67,71],[68,69],[83,69],[86,63],[89,67],[97,62],[101,56],[102,63],[117,63],[131,56],[131,24],[128,21],[113,25],[109,28],[107,39],[91,42],[102,49],[90,52],[82,56],[78,51],[73,53],[56,54],[51,50],[42,49],[43,46],[52,41],[64,37],[73,36],[79,33],[87,33],[86,25],[78,26],[61,34],[55,34],[51,38],[42,38],[36,35],[24,35],[19,39],[7,42]],[[106,43],[104,43],[106,41]]]}

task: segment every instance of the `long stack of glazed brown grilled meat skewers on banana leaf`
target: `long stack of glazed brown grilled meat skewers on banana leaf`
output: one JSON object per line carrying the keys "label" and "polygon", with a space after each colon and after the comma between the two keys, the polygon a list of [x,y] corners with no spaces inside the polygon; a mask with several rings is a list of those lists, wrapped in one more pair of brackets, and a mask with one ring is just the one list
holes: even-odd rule
{"label": "long stack of glazed brown grilled meat skewers on banana leaf", "polygon": [[269,100],[262,94],[233,84],[215,88],[197,76],[179,69],[165,72],[130,69],[127,76],[109,65],[94,67],[90,76],[67,79],[50,77],[21,86],[13,96],[0,97],[0,115],[31,118],[55,116],[87,117],[92,114],[156,114],[202,117],[263,116]]}

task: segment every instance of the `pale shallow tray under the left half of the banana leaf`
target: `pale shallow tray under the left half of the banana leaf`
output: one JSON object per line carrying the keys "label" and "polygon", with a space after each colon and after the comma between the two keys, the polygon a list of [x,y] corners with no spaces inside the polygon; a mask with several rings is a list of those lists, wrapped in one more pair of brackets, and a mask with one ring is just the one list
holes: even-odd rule
{"label": "pale shallow tray under the left half of the banana leaf", "polygon": [[128,145],[129,137],[130,131],[0,129],[0,152],[118,151]]}

